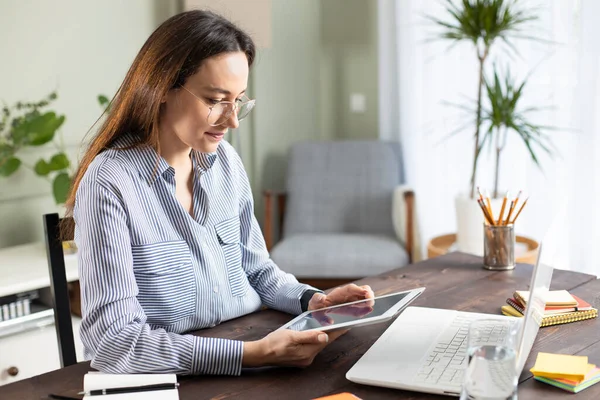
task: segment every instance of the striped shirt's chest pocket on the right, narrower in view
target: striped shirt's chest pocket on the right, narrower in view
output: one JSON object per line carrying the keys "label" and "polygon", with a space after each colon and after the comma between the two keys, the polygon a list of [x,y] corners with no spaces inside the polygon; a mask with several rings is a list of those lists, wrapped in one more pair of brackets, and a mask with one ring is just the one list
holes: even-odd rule
{"label": "striped shirt's chest pocket on the right, narrower in view", "polygon": [[242,244],[240,242],[240,219],[233,217],[215,225],[217,238],[225,256],[229,288],[233,296],[243,296],[250,284],[242,268]]}

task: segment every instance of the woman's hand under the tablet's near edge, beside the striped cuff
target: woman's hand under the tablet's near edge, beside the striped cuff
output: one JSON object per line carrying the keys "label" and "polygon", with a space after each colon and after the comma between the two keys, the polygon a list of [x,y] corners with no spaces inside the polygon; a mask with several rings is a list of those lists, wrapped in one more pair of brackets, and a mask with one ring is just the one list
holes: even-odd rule
{"label": "woman's hand under the tablet's near edge, beside the striped cuff", "polygon": [[330,333],[309,331],[298,332],[281,329],[271,332],[263,339],[244,343],[242,366],[261,367],[281,365],[306,367],[315,356],[345,331]]}

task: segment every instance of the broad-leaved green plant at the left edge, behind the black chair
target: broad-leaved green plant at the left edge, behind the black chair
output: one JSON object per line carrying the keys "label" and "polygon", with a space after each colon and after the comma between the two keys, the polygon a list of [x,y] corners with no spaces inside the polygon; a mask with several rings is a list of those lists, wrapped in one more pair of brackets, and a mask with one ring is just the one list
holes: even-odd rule
{"label": "broad-leaved green plant at the left edge, behind the black chair", "polygon": [[[57,204],[62,204],[67,198],[72,172],[71,162],[59,134],[65,116],[46,111],[56,98],[56,92],[52,92],[39,102],[17,102],[11,107],[2,108],[0,176],[8,177],[22,166],[28,167],[38,176],[51,182],[54,200]],[[46,144],[52,144],[55,148],[55,154],[49,159],[40,158],[34,165],[27,165],[19,157],[20,152],[27,147]]]}

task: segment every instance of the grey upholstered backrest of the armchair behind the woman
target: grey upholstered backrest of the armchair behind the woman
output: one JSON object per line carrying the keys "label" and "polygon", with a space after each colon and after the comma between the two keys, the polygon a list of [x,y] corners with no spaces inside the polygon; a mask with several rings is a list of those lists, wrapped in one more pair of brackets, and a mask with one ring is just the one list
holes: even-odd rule
{"label": "grey upholstered backrest of the armchair behind the woman", "polygon": [[295,144],[288,165],[284,237],[308,233],[394,236],[392,193],[401,182],[397,143]]}

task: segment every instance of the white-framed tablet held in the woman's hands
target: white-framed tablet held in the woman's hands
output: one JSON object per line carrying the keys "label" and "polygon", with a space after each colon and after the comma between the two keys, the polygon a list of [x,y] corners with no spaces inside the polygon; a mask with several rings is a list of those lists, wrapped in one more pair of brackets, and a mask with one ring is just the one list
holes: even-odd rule
{"label": "white-framed tablet held in the woman's hands", "polygon": [[425,288],[422,287],[306,311],[279,329],[331,331],[384,322],[404,310],[424,290]]}

